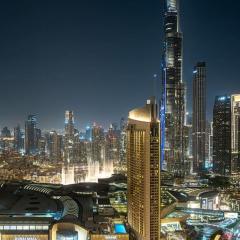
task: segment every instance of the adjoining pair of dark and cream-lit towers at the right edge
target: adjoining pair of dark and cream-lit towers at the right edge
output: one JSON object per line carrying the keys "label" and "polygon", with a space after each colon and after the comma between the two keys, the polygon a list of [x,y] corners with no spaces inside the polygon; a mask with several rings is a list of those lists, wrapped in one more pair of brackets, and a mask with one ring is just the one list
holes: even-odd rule
{"label": "adjoining pair of dark and cream-lit towers at the right edge", "polygon": [[240,170],[240,94],[216,97],[213,111],[213,170]]}

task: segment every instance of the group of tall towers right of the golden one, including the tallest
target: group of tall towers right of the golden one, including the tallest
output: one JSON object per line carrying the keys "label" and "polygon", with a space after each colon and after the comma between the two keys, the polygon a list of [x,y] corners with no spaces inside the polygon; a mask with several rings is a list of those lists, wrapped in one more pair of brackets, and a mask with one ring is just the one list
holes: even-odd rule
{"label": "group of tall towers right of the golden one, including the tallest", "polygon": [[237,172],[239,95],[216,97],[213,121],[208,122],[206,63],[198,62],[193,69],[192,115],[187,114],[178,1],[166,0],[164,8],[161,169],[176,177],[209,170],[225,175]]}

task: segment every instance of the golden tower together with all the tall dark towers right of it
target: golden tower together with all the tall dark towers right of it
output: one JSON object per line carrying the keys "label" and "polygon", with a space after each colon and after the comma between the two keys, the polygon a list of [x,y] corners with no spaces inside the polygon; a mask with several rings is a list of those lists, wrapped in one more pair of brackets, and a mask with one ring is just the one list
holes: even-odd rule
{"label": "golden tower together with all the tall dark towers right of it", "polygon": [[[186,113],[183,36],[177,0],[165,0],[160,107],[155,98],[129,113],[127,127],[128,222],[141,240],[160,237],[161,170],[175,178],[240,170],[240,94],[217,96],[206,117],[206,63],[193,69],[192,116]],[[159,112],[158,112],[159,110]]]}

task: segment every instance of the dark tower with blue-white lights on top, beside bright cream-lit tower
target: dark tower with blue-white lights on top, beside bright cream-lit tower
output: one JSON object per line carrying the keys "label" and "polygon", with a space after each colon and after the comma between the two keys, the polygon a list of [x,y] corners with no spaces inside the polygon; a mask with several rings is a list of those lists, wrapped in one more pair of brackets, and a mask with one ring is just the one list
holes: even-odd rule
{"label": "dark tower with blue-white lights on top, beside bright cream-lit tower", "polygon": [[217,96],[213,109],[213,171],[231,173],[231,97]]}

